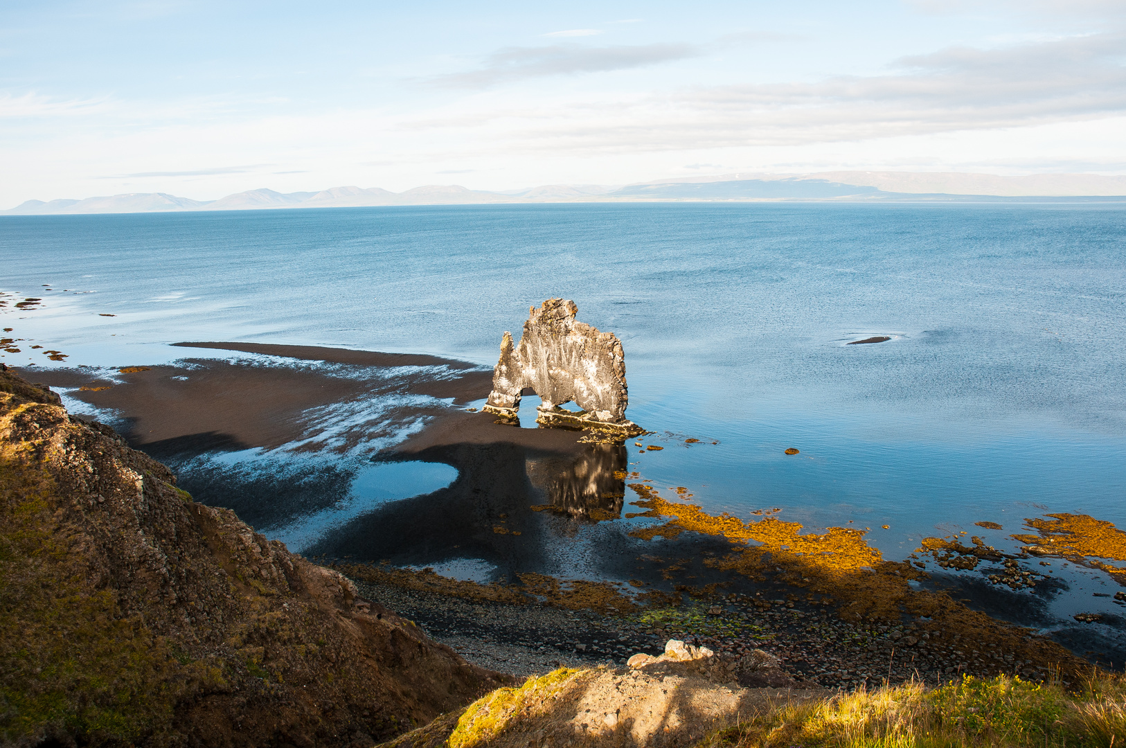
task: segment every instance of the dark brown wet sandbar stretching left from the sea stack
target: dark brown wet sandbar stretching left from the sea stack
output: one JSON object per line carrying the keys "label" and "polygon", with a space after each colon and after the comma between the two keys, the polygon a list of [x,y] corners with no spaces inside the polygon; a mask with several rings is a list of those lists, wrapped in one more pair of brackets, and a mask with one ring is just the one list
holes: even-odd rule
{"label": "dark brown wet sandbar stretching left from the sea stack", "polygon": [[[69,394],[114,411],[118,418],[115,426],[129,444],[154,456],[250,447],[274,449],[315,436],[311,413],[319,409],[392,395],[429,395],[464,406],[488,397],[492,385],[491,371],[436,356],[235,342],[175,345],[262,354],[279,360],[271,365],[186,358],[175,365],[123,367],[141,371],[115,374],[118,382],[83,368],[25,373],[53,388],[90,388]],[[283,358],[338,366],[291,366]],[[431,419],[422,434],[399,447],[404,455],[435,449],[449,453],[461,444],[510,444],[571,455],[581,451],[575,431],[499,425],[488,413],[465,412],[444,403],[402,404],[391,417],[397,422],[418,417]],[[364,436],[358,430],[351,442]]]}

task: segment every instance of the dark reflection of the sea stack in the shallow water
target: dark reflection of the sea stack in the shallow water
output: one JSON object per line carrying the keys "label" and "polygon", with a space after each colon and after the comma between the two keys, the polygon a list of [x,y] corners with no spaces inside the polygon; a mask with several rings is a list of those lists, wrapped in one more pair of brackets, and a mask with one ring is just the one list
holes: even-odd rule
{"label": "dark reflection of the sea stack in the shallow water", "polygon": [[528,462],[528,478],[551,504],[533,507],[592,522],[617,519],[625,500],[626,448],[593,444],[574,462],[545,458]]}

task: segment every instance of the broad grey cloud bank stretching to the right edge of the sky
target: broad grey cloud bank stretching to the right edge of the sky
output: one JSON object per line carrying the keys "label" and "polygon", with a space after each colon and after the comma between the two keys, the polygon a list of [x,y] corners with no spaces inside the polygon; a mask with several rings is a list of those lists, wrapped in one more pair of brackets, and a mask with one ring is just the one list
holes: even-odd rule
{"label": "broad grey cloud bank stretching to the right edge of the sky", "polygon": [[[949,47],[895,74],[697,87],[616,101],[614,126],[537,128],[556,145],[685,149],[855,141],[1098,118],[1126,113],[1126,35],[1002,50]],[[628,121],[623,121],[623,119]],[[632,122],[631,122],[632,121]],[[592,123],[591,123],[592,124]],[[533,136],[533,131],[528,132]]]}

